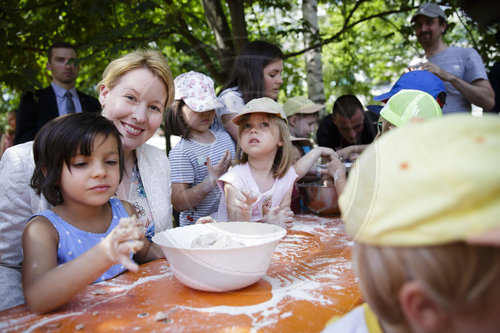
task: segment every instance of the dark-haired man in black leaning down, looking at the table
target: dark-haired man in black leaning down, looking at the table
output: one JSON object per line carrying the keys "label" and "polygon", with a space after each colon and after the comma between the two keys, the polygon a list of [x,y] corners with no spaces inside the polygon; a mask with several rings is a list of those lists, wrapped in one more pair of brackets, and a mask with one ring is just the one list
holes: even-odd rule
{"label": "dark-haired man in black leaning down, looking at the table", "polygon": [[341,148],[369,144],[377,134],[377,121],[378,115],[364,111],[356,96],[340,96],[333,104],[332,114],[323,118],[318,127],[318,145],[339,153]]}

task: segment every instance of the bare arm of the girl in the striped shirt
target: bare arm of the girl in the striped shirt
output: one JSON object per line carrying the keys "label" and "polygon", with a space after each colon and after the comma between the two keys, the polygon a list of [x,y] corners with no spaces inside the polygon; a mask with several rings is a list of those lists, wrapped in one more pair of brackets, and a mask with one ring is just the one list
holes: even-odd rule
{"label": "bare arm of the girl in the striped shirt", "polygon": [[207,157],[208,176],[201,183],[190,187],[187,183],[172,184],[172,206],[178,212],[198,206],[206,196],[217,186],[217,179],[226,173],[231,164],[231,153],[226,150],[221,160],[212,165]]}

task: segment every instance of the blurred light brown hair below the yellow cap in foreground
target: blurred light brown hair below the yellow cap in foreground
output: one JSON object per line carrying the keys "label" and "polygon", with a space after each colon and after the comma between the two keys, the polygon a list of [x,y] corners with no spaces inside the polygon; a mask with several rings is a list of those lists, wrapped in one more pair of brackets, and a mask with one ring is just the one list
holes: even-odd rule
{"label": "blurred light brown hair below the yellow cap in foreground", "polygon": [[500,248],[465,242],[427,247],[356,242],[353,262],[364,299],[384,325],[400,332],[409,329],[398,297],[406,282],[418,282],[447,311],[473,309],[471,315],[480,316],[500,279]]}

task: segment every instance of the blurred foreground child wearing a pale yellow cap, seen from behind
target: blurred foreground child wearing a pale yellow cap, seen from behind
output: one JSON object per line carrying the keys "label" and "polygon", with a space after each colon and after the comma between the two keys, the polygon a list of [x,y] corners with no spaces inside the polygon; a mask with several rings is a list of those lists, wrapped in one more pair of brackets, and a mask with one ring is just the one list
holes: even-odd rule
{"label": "blurred foreground child wearing a pale yellow cap, seen from behind", "polygon": [[390,131],[339,206],[366,303],[324,332],[498,332],[500,118],[450,115]]}

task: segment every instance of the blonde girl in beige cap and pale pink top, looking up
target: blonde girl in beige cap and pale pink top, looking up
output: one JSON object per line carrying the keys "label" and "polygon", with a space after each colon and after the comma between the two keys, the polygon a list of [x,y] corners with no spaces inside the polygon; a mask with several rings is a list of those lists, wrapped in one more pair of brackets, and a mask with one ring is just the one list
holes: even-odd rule
{"label": "blonde girl in beige cap and pale pink top, looking up", "polygon": [[219,178],[223,190],[219,221],[264,221],[290,227],[295,181],[329,148],[315,148],[292,167],[293,150],[286,116],[268,97],[251,100],[233,122],[238,125],[237,161]]}

